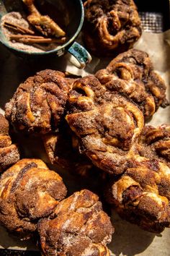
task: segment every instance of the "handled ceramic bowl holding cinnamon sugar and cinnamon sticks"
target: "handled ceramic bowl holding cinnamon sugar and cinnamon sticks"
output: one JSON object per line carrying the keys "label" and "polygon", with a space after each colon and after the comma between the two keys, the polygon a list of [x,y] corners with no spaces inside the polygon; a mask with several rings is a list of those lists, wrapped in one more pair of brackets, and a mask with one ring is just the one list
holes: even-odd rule
{"label": "handled ceramic bowl holding cinnamon sugar and cinnamon sticks", "polygon": [[84,68],[91,61],[75,42],[84,22],[81,0],[0,0],[0,40],[18,56],[61,56]]}

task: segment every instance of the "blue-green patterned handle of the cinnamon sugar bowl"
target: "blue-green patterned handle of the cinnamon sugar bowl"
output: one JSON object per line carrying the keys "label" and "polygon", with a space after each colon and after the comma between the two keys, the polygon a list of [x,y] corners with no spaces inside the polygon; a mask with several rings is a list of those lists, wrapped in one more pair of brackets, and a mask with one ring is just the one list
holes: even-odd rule
{"label": "blue-green patterned handle of the cinnamon sugar bowl", "polygon": [[91,61],[91,55],[89,52],[77,42],[73,42],[67,51],[69,61],[79,69],[84,69],[86,64]]}

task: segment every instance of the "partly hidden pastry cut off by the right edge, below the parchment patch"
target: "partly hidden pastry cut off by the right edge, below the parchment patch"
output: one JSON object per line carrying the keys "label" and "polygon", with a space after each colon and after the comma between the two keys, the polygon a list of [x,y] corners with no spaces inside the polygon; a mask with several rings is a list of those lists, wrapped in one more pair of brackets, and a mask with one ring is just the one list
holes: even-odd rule
{"label": "partly hidden pastry cut off by the right edge, below the parchment patch", "polygon": [[150,125],[144,127],[138,150],[140,155],[158,159],[170,167],[170,125],[162,124],[156,128]]}

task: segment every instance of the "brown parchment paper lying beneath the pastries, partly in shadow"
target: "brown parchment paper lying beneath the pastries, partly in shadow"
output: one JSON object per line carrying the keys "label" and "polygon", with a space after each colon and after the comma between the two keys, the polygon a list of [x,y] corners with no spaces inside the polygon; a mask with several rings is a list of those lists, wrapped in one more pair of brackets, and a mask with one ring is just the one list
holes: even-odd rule
{"label": "brown parchment paper lying beneath the pastries, partly in shadow", "polygon": [[[81,35],[78,38],[81,42]],[[134,48],[148,52],[153,61],[154,68],[161,74],[167,85],[167,98],[170,100],[170,30],[165,33],[154,34],[143,32],[142,37],[135,44]],[[0,45],[0,113],[4,112],[4,103],[9,101],[20,82],[35,72],[50,68],[66,70],[72,74],[86,75],[96,72],[98,69],[106,67],[111,59],[98,59],[93,56],[91,64],[86,69],[80,70],[73,67],[68,61],[67,54],[56,60],[45,62],[34,61],[34,63],[24,63],[13,54],[10,54],[4,46]],[[170,122],[170,108],[159,108],[149,124],[158,125]],[[27,147],[28,146],[28,147]],[[25,151],[27,157],[35,156],[46,160],[44,152],[40,148],[31,152]],[[30,148],[26,145],[26,148]],[[58,171],[58,170],[57,170]],[[81,189],[81,181],[76,180],[66,171],[61,171],[63,180],[69,191]],[[109,244],[111,255],[116,256],[169,256],[170,255],[170,229],[165,229],[160,235],[151,234],[143,231],[127,221],[123,221],[115,212],[112,212],[112,223],[115,226],[115,234],[112,237],[112,243]],[[19,242],[16,238],[7,234],[0,226],[0,248],[10,249],[37,249],[35,242]]]}

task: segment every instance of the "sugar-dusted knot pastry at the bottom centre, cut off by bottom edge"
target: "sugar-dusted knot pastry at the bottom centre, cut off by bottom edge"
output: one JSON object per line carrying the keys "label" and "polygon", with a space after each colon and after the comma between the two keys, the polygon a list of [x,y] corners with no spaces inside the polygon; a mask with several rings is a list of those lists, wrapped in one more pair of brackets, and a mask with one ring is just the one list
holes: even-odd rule
{"label": "sugar-dusted knot pastry at the bottom centre, cut off by bottom edge", "polygon": [[99,198],[89,190],[60,202],[49,218],[38,223],[43,255],[109,256],[106,244],[114,229]]}

